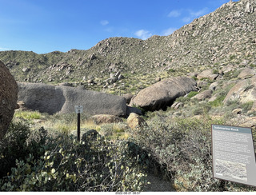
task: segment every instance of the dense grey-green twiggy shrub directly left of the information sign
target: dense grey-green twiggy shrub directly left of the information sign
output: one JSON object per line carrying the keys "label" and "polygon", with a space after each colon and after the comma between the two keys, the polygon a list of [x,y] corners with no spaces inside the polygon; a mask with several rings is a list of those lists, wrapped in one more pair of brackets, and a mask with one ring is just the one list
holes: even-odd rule
{"label": "dense grey-green twiggy shrub directly left of the information sign", "polygon": [[[241,185],[213,178],[211,124],[223,121],[209,118],[179,118],[166,124],[154,121],[148,128],[138,129],[133,139],[161,165],[178,191],[240,191]],[[253,190],[245,185],[242,189]]]}

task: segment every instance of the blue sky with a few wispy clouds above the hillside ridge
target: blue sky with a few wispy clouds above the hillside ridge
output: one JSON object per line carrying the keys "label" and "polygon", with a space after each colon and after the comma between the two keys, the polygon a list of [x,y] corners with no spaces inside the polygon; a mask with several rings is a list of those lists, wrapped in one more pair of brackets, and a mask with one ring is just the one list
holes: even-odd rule
{"label": "blue sky with a few wispy clouds above the hillside ridge", "polygon": [[0,0],[0,50],[88,50],[103,39],[169,35],[229,0]]}

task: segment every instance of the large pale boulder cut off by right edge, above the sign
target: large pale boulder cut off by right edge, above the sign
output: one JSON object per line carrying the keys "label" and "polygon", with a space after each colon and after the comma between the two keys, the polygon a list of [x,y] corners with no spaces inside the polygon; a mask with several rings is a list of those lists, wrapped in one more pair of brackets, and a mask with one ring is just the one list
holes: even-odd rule
{"label": "large pale boulder cut off by right edge, above the sign", "polygon": [[249,101],[255,101],[255,99],[256,76],[238,82],[233,88],[231,88],[223,102],[226,104],[228,101],[238,100],[242,103],[246,103]]}

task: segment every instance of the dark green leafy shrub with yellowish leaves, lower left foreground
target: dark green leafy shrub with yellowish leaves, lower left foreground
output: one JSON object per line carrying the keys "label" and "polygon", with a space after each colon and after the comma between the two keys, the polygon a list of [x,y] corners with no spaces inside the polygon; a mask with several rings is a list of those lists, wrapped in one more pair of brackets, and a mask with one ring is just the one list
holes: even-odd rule
{"label": "dark green leafy shrub with yellowish leaves, lower left foreground", "polygon": [[[101,136],[76,141],[64,133],[48,136],[41,129],[43,139],[40,134],[29,137],[27,126],[16,127],[24,134],[16,144],[22,148],[11,159],[10,173],[0,179],[2,191],[140,191],[146,183],[126,142],[111,143]],[[11,153],[1,151],[1,161]]]}

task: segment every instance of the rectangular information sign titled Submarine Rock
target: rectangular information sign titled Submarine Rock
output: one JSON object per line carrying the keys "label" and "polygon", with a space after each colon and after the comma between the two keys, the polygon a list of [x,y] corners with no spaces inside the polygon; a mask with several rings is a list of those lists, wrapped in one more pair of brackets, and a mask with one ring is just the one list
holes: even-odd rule
{"label": "rectangular information sign titled Submarine Rock", "polygon": [[212,125],[211,133],[214,178],[256,186],[252,130]]}

